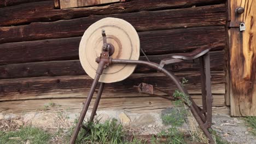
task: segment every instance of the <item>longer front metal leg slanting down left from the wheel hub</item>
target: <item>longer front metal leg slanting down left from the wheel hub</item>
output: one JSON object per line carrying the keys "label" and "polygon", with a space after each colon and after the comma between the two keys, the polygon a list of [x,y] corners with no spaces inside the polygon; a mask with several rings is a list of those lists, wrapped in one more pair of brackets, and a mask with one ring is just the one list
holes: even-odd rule
{"label": "longer front metal leg slanting down left from the wheel hub", "polygon": [[83,124],[83,121],[84,121],[84,117],[85,117],[86,112],[88,110],[88,107],[89,107],[89,105],[91,103],[92,95],[94,95],[95,88],[97,86],[97,82],[100,79],[100,76],[101,76],[102,71],[104,69],[103,67],[104,67],[104,62],[98,64],[98,68],[97,68],[97,71],[96,71],[95,79],[92,82],[91,89],[89,91],[88,97],[87,97],[87,99],[85,101],[85,104],[84,104],[84,107],[83,107],[83,110],[82,110],[82,112],[80,114],[80,117],[78,119],[78,123],[75,126],[73,135],[71,137],[71,140],[69,141],[70,144],[74,144],[75,140],[77,139],[77,135],[79,133],[80,128],[82,127],[82,124]]}

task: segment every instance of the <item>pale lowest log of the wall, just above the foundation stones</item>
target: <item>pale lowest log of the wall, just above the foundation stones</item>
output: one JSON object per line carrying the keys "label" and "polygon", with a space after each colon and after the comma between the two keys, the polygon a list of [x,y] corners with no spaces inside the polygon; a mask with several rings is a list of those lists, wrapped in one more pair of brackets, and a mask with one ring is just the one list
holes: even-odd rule
{"label": "pale lowest log of the wall, just above the foundation stones", "polygon": [[[56,111],[67,110],[68,112],[79,113],[82,110],[84,98],[69,99],[37,99],[37,100],[16,100],[2,101],[0,105],[1,113],[24,113],[34,111]],[[92,109],[92,99],[89,112]],[[54,104],[49,106],[49,104]],[[45,107],[47,109],[45,109]],[[125,110],[132,113],[152,113],[160,112],[162,109],[172,107],[171,101],[158,97],[137,97],[137,98],[102,98],[98,110]],[[229,107],[212,107],[213,115],[229,115]]]}

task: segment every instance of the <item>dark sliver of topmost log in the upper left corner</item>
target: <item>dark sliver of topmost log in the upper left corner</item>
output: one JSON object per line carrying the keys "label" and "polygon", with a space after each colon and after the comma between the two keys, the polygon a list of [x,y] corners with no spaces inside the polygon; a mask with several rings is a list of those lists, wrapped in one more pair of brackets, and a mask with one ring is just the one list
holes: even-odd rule
{"label": "dark sliver of topmost log in the upper left corner", "polygon": [[[32,3],[32,2],[42,2],[42,1],[49,1],[49,0],[0,0],[0,8],[1,7],[9,7],[11,5],[18,5],[22,3]],[[19,11],[16,11],[19,13]]]}

